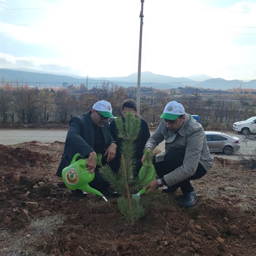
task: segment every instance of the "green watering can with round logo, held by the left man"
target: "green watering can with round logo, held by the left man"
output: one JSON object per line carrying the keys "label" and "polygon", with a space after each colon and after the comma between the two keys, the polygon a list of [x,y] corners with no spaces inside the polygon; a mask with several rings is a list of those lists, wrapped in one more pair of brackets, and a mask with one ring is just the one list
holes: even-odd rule
{"label": "green watering can with round logo, held by the left man", "polygon": [[88,193],[96,194],[100,197],[103,197],[105,201],[108,201],[106,197],[100,193],[100,191],[89,186],[88,183],[93,181],[95,174],[90,174],[86,168],[87,159],[79,159],[76,161],[78,157],[82,156],[77,153],[74,155],[71,164],[65,167],[62,170],[62,179],[65,185],[70,190],[80,189]]}

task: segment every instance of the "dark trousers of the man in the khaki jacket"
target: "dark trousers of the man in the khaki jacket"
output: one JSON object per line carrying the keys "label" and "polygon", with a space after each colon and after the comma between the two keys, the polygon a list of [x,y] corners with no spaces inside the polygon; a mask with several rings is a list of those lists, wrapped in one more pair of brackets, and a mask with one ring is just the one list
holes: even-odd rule
{"label": "dark trousers of the man in the khaki jacket", "polygon": [[[164,161],[157,162],[157,163],[156,163],[155,156],[154,156],[153,164],[155,166],[158,176],[160,178],[163,178],[164,175],[166,175],[170,172],[173,172],[176,168],[181,166],[183,164],[184,155],[185,155],[185,153],[183,153],[183,152],[179,152],[177,150],[172,150],[172,151],[166,153],[166,155],[164,156]],[[173,188],[180,187],[183,193],[188,193],[188,192],[194,191],[194,188],[191,185],[190,180],[200,179],[206,173],[207,172],[206,172],[205,168],[202,166],[201,163],[199,163],[196,173],[193,176],[191,176],[179,183],[174,184],[172,187]]]}

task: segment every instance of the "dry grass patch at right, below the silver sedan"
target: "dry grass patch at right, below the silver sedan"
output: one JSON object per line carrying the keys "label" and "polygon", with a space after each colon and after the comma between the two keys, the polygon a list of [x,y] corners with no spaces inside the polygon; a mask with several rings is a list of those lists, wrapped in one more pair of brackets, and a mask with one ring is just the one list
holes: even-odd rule
{"label": "dry grass patch at right, below the silver sedan", "polygon": [[[207,199],[236,202],[242,210],[256,210],[256,173],[243,168],[238,161],[216,161],[214,167],[203,178],[194,181],[198,195]],[[206,185],[205,185],[206,184]]]}

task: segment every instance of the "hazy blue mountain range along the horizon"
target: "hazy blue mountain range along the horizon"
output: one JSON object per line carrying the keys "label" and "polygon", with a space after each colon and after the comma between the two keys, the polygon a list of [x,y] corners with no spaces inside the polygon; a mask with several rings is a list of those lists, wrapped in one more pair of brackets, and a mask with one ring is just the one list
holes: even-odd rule
{"label": "hazy blue mountain range along the horizon", "polygon": [[[191,76],[190,76],[191,77]],[[209,89],[256,89],[256,80],[240,81],[240,80],[225,80],[223,78],[210,78],[200,81],[199,78],[209,77],[207,75],[199,75],[196,80],[187,77],[172,77],[165,75],[157,75],[152,72],[141,72],[141,87],[153,87],[156,89],[174,89],[178,87],[197,87]],[[88,89],[96,86],[101,86],[103,81],[110,81],[118,86],[137,87],[137,73],[133,73],[125,77],[72,77],[65,75],[56,75],[40,72],[28,72],[13,69],[0,69],[0,81],[4,83],[22,84],[26,83],[34,87],[61,87],[62,83],[68,85],[74,84],[79,86],[81,83],[88,84]]]}

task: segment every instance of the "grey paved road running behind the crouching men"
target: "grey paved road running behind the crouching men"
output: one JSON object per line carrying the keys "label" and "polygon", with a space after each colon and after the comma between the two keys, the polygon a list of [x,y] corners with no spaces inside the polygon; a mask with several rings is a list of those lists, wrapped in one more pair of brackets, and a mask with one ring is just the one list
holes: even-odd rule
{"label": "grey paved road running behind the crouching men", "polygon": [[[42,130],[42,129],[3,129],[0,130],[0,144],[13,145],[22,142],[40,141],[45,143],[52,143],[54,141],[65,142],[68,130]],[[243,143],[244,136],[236,132],[225,132],[228,135],[236,136],[240,139],[240,152],[234,155],[225,156],[223,154],[214,154],[214,156],[238,159],[240,154],[251,155],[256,148],[256,141],[249,141],[247,144]],[[159,146],[160,150],[164,150],[164,142]]]}

